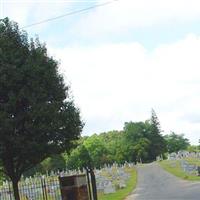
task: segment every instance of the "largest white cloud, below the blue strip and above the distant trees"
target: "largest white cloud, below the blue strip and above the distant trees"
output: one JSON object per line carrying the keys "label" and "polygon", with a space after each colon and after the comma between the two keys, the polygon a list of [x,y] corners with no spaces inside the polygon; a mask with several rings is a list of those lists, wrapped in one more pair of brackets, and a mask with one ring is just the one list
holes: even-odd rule
{"label": "largest white cloud, below the blue strip and above the distant trees", "polygon": [[72,83],[88,134],[145,120],[154,108],[166,133],[185,133],[193,143],[198,142],[200,124],[182,116],[196,114],[200,102],[197,52],[200,37],[195,35],[153,52],[139,43],[51,49]]}

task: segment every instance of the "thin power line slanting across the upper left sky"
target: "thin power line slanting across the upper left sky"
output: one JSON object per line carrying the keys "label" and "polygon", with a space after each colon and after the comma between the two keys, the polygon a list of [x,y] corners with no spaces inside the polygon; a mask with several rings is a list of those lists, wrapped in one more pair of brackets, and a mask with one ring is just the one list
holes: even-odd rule
{"label": "thin power line slanting across the upper left sky", "polygon": [[63,14],[63,15],[60,15],[60,16],[57,16],[57,17],[45,19],[45,20],[42,20],[40,22],[36,22],[36,23],[33,23],[33,24],[29,24],[29,25],[23,26],[20,29],[29,28],[29,27],[32,27],[32,26],[36,26],[36,25],[39,25],[39,24],[47,23],[47,22],[50,22],[50,21],[53,21],[53,20],[57,20],[57,19],[60,19],[60,18],[63,18],[63,17],[67,17],[67,16],[70,16],[70,15],[79,14],[79,13],[82,13],[82,12],[86,12],[86,11],[92,10],[94,8],[107,6],[107,5],[111,4],[111,3],[114,3],[115,1],[118,1],[118,0],[112,0],[112,1],[105,2],[105,3],[101,3],[101,4],[94,5],[94,6],[90,6],[90,7],[87,7],[87,8],[83,8],[83,9],[80,9],[80,10],[75,10],[75,11],[72,11],[72,12],[68,12],[66,14]]}

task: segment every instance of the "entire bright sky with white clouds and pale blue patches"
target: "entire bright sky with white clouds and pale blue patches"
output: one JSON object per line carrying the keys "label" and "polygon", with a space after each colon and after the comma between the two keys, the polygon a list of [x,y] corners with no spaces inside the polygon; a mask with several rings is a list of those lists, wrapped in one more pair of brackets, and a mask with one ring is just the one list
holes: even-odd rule
{"label": "entire bright sky with white clouds and pale blue patches", "polygon": [[4,17],[39,36],[59,61],[83,135],[122,130],[124,122],[149,119],[153,108],[162,134],[198,144],[199,0],[0,0]]}

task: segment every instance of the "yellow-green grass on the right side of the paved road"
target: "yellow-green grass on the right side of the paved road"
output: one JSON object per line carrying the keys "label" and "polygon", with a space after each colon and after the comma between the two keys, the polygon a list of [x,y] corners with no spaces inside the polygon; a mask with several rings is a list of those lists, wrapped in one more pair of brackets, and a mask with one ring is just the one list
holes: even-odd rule
{"label": "yellow-green grass on the right side of the paved road", "polygon": [[[189,162],[190,160],[190,163],[194,164],[194,163],[199,163],[200,164],[200,160],[197,160],[197,159],[185,159]],[[163,160],[163,161],[160,161],[158,162],[160,164],[160,166],[165,169],[166,171],[168,171],[169,173],[179,177],[179,178],[182,178],[184,180],[189,180],[189,181],[200,181],[200,176],[197,176],[195,174],[189,174],[189,173],[186,173],[182,170],[181,168],[181,164],[180,164],[180,161],[181,160]]]}

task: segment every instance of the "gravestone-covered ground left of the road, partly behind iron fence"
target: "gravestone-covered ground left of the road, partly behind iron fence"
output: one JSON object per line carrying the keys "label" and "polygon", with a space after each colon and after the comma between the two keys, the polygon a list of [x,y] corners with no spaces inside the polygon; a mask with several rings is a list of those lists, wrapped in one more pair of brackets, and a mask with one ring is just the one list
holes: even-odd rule
{"label": "gravestone-covered ground left of the road, partly behind iron fence", "polygon": [[[102,169],[95,169],[96,187],[98,195],[116,193],[126,188],[130,180],[130,170],[134,169],[133,164],[118,166],[105,166]],[[19,182],[19,193],[21,200],[61,200],[59,177],[82,175],[86,172],[80,170],[63,170],[61,172],[50,172],[46,175],[34,177],[22,177]],[[13,190],[9,181],[4,181],[0,186],[1,200],[14,200]]]}

